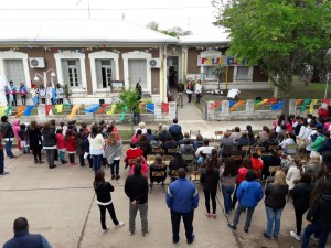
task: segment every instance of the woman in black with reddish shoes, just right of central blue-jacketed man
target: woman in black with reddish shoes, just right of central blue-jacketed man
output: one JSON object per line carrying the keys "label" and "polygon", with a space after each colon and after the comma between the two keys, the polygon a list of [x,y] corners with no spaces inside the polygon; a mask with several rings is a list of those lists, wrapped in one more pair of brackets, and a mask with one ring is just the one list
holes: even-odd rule
{"label": "woman in black with reddish shoes, just right of central blue-jacketed man", "polygon": [[[220,181],[220,171],[214,168],[213,160],[207,160],[207,165],[202,170],[200,182],[203,185],[203,193],[205,198],[205,214],[207,218],[216,218],[216,193]],[[213,214],[211,214],[210,200],[212,200]]]}

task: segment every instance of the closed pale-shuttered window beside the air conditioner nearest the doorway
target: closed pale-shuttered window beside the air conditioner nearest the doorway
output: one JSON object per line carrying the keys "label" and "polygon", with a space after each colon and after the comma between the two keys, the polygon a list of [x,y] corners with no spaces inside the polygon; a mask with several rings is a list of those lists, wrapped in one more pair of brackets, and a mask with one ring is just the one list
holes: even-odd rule
{"label": "closed pale-shuttered window beside the air conditioner nearest the doorway", "polygon": [[135,88],[139,82],[142,88],[147,88],[147,60],[128,60],[129,87]]}

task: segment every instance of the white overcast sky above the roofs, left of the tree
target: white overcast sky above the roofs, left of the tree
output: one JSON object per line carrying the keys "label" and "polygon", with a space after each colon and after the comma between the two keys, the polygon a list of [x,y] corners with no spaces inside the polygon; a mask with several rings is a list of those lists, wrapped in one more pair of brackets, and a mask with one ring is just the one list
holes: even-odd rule
{"label": "white overcast sky above the roofs, left of the tree", "polygon": [[214,19],[211,0],[0,0],[0,19],[120,19],[197,33]]}

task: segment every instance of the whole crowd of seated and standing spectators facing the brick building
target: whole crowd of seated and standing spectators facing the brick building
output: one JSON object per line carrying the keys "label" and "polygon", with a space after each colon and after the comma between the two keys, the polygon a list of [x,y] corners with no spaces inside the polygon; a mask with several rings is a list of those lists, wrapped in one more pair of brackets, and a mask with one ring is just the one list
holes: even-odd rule
{"label": "whole crowd of seated and standing spectators facing the brick building", "polygon": [[[56,159],[63,164],[67,163],[66,153],[71,165],[77,164],[76,155],[81,166],[85,165],[85,161],[88,162],[95,171],[94,188],[105,233],[108,229],[105,223],[106,209],[117,227],[124,223],[116,218],[110,197],[114,187],[105,181],[103,164],[109,164],[111,180],[119,180],[119,164],[125,153],[125,168],[129,168],[125,193],[130,201],[130,235],[135,234],[138,211],[142,235],[148,235],[148,181],[150,187],[153,183],[164,185],[169,175],[172,183],[166,200],[171,209],[172,241],[179,241],[179,223],[183,217],[186,241],[193,242],[195,236],[192,223],[194,209],[199,205],[199,193],[195,184],[186,180],[188,166],[191,165],[201,175],[207,218],[217,219],[218,185],[224,200],[224,215],[229,217],[234,212],[234,218],[228,223],[234,231],[245,211],[244,231],[249,231],[254,211],[265,198],[267,224],[264,236],[277,239],[282,211],[291,197],[296,230],[289,235],[302,240],[302,248],[306,248],[313,234],[319,239],[319,247],[325,247],[331,230],[331,125],[328,118],[280,115],[273,127],[263,127],[258,133],[249,125],[245,131],[239,127],[225,131],[217,147],[211,145],[210,140],[203,139],[202,134],[191,139],[188,132],[183,133],[177,119],[173,119],[170,127],[160,125],[157,132],[140,122],[126,152],[122,151],[122,140],[113,122],[106,125],[102,121],[89,128],[82,123],[78,128],[75,121],[70,121],[67,126],[61,122],[60,127],[54,120],[42,126],[35,121],[20,125],[15,120],[13,127],[6,116],[1,121],[0,138],[6,142],[9,158],[14,158],[11,142],[17,138],[22,153],[33,152],[35,163],[43,163],[41,150],[44,149],[50,169],[56,166]],[[152,161],[149,161],[150,155],[154,155]],[[171,158],[169,163],[166,157]],[[275,166],[277,170],[270,172],[269,169]],[[3,160],[0,172],[4,173]],[[309,224],[302,234],[306,213]]]}

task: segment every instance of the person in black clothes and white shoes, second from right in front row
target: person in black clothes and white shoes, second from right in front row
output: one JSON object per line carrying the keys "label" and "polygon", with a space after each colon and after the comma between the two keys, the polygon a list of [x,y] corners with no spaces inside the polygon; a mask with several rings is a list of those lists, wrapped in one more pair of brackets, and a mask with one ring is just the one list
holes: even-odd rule
{"label": "person in black clothes and white shoes, second from right in front row", "polygon": [[297,230],[290,231],[290,235],[297,239],[301,239],[302,216],[309,208],[309,195],[312,191],[311,173],[303,173],[292,190],[293,207],[296,213]]}

